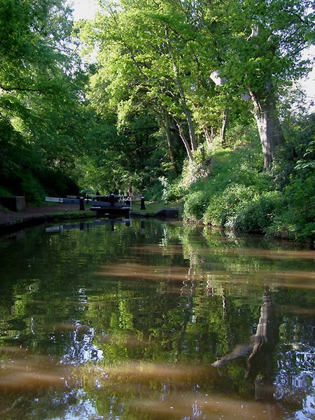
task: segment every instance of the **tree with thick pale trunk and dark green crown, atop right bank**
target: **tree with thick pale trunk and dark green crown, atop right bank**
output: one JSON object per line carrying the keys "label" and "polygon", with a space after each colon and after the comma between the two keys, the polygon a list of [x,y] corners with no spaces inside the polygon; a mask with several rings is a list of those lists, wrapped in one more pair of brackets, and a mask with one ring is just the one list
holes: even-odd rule
{"label": "tree with thick pale trunk and dark green crown, atop right bank", "polygon": [[312,1],[244,0],[224,3],[220,73],[231,93],[246,91],[260,134],[265,169],[284,141],[276,102],[284,85],[309,70],[302,51],[314,42]]}

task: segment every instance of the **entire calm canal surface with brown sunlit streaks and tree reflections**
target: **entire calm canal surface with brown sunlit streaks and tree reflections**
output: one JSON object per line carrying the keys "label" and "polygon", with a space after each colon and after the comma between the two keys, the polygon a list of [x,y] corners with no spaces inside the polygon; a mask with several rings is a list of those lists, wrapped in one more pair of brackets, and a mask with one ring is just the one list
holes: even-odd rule
{"label": "entire calm canal surface with brown sunlit streaks and tree reflections", "polygon": [[314,419],[315,252],[156,220],[0,239],[0,419]]}

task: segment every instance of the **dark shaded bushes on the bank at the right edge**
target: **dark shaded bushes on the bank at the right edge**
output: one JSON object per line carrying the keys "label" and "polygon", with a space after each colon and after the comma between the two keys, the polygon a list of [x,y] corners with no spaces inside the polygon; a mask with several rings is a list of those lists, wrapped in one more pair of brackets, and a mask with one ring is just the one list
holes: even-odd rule
{"label": "dark shaded bushes on the bank at the right edge", "polygon": [[315,115],[300,116],[286,148],[276,157],[274,181],[283,192],[283,207],[267,234],[289,237],[314,246],[315,238]]}

